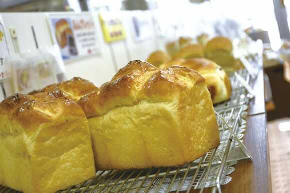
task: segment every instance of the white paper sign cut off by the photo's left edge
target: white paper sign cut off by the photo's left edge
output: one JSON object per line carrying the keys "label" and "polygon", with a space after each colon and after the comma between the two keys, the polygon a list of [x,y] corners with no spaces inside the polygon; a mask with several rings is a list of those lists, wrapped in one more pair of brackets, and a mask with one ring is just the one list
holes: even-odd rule
{"label": "white paper sign cut off by the photo's left edge", "polygon": [[0,18],[0,80],[6,79],[10,76],[9,67],[4,65],[5,55],[8,54],[7,41],[4,34],[4,26]]}

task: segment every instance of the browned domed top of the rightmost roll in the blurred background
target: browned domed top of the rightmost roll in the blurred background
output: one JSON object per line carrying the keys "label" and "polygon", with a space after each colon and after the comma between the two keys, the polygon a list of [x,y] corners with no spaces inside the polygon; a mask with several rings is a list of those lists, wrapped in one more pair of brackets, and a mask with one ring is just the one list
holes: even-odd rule
{"label": "browned domed top of the rightmost roll in the blurred background", "polygon": [[223,50],[229,53],[232,52],[233,45],[229,38],[227,37],[215,37],[207,42],[206,44],[206,52],[212,52],[216,50]]}

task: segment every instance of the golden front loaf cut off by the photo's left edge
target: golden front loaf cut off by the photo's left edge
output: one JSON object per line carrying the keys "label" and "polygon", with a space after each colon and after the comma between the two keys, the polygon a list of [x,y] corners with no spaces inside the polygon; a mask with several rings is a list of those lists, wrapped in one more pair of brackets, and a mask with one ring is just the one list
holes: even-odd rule
{"label": "golden front loaf cut off by the photo's left edge", "polygon": [[0,184],[53,193],[95,176],[88,120],[52,93],[15,94],[0,103]]}

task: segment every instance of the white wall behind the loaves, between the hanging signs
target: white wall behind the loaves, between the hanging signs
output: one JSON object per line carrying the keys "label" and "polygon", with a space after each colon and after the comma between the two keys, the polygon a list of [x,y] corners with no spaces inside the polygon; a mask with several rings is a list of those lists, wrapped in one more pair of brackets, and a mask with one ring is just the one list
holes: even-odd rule
{"label": "white wall behind the loaves, between the hanging signs", "polygon": [[[58,12],[58,14],[60,13]],[[126,65],[130,59],[145,60],[150,52],[157,49],[155,34],[151,39],[142,42],[134,41],[131,19],[132,14],[135,14],[134,12],[120,12],[118,14],[120,14],[126,29],[126,40],[114,42],[111,45],[107,44],[103,39],[98,15],[93,13],[101,53],[65,62],[65,75],[67,79],[79,76],[100,86],[104,82],[109,81],[116,73],[116,70]],[[146,12],[146,14],[149,17],[152,15],[151,12]],[[34,26],[39,47],[53,45],[47,23],[48,13],[1,13],[0,15],[6,28],[6,38],[11,52],[14,52],[14,49],[9,33],[10,28],[16,29],[21,52],[36,48],[31,25]],[[151,27],[154,31],[153,23]],[[110,46],[116,57],[116,66],[113,63]],[[126,52],[126,49],[129,51],[129,54]]]}

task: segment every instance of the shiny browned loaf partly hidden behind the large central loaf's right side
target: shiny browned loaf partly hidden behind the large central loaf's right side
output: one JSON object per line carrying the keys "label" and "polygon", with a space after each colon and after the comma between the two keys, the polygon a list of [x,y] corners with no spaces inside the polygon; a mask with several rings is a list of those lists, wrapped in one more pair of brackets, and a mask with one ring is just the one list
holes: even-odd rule
{"label": "shiny browned loaf partly hidden behind the large central loaf's right side", "polygon": [[[174,62],[172,62],[174,65]],[[205,78],[207,88],[214,104],[226,101],[231,96],[231,83],[225,71],[213,61],[204,58],[187,59],[180,66],[198,71]],[[171,63],[167,62],[160,68],[167,68]]]}

